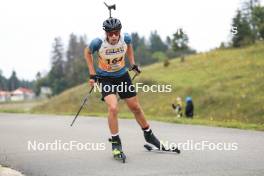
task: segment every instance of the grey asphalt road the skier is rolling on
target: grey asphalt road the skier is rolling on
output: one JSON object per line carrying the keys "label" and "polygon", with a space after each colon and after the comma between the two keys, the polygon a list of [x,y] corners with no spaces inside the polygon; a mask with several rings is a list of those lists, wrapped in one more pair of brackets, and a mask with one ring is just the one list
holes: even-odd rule
{"label": "grey asphalt road the skier is rolling on", "polygon": [[[210,146],[225,146],[225,150],[210,150],[208,146],[202,150],[199,145],[199,150],[185,148],[177,155],[146,151],[136,121],[120,120],[120,136],[128,157],[122,164],[112,158],[106,118],[80,117],[70,127],[72,118],[0,114],[0,164],[26,176],[264,175],[264,132],[150,122],[154,133],[171,145],[181,142],[186,147],[192,142],[198,146],[205,141]],[[36,151],[32,150],[34,141],[39,147]],[[66,144],[70,142],[78,144],[78,149],[86,146],[86,150],[75,145],[68,151]],[[53,143],[53,148],[44,146],[47,143]],[[64,148],[59,149],[62,144]]]}

